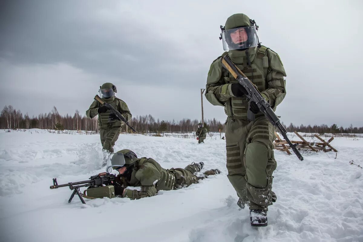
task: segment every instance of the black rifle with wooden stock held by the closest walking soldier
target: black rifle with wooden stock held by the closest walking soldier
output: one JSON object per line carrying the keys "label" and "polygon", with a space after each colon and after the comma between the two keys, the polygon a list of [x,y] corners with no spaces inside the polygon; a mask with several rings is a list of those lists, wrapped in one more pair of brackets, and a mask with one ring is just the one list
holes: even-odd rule
{"label": "black rifle with wooden stock held by the closest walking soldier", "polygon": [[[265,117],[270,121],[270,123],[275,126],[278,131],[282,134],[284,139],[286,140],[287,144],[291,147],[291,149],[294,151],[295,155],[299,158],[299,160],[303,160],[304,158],[296,148],[297,144],[291,143],[289,138],[287,138],[287,131],[284,126],[282,126],[280,119],[275,114],[275,112],[272,110],[270,104],[265,100],[264,97],[262,97],[260,91],[258,91],[256,85],[254,85],[247,77],[246,75],[238,69],[236,65],[229,59],[228,56],[223,57],[222,59],[222,65],[225,69],[227,69],[234,78],[238,80],[238,82],[247,90],[246,96],[250,102],[255,102],[257,104],[257,107],[260,109],[260,111],[265,115]],[[248,110],[250,111],[250,110]],[[248,119],[253,120],[254,115],[248,115]]]}

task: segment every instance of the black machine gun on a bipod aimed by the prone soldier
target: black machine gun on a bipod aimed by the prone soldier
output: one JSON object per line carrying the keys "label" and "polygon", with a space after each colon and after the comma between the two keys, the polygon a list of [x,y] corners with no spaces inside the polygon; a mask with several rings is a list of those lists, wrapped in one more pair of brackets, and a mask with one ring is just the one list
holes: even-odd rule
{"label": "black machine gun on a bipod aimed by the prone soldier", "polygon": [[83,204],[86,204],[85,200],[83,200],[83,195],[79,192],[79,188],[90,186],[91,188],[112,185],[115,181],[116,176],[114,174],[110,174],[107,172],[99,173],[98,175],[94,175],[90,177],[90,180],[87,181],[77,181],[77,182],[69,182],[67,184],[58,185],[57,178],[53,178],[53,186],[50,186],[50,189],[56,189],[64,186],[69,186],[69,189],[73,190],[72,195],[70,196],[68,202],[71,202],[74,195],[77,194],[79,199],[81,199]]}

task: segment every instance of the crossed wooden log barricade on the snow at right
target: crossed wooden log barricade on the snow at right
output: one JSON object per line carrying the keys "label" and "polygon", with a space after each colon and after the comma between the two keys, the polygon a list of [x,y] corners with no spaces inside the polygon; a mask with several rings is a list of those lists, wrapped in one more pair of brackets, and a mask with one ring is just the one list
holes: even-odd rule
{"label": "crossed wooden log barricade on the snow at right", "polygon": [[[291,140],[291,143],[297,144],[296,148],[298,148],[299,150],[310,150],[314,152],[329,152],[333,150],[334,152],[338,152],[333,146],[330,145],[330,142],[334,139],[334,137],[331,137],[328,141],[325,141],[319,135],[315,134],[314,136],[318,138],[321,142],[307,142],[298,132],[295,131],[294,133],[301,139],[301,141]],[[276,132],[275,135],[277,137],[274,142],[276,149],[280,151],[286,151],[288,155],[291,155],[291,152],[289,151],[290,146],[287,145],[287,142],[285,140],[282,140]]]}

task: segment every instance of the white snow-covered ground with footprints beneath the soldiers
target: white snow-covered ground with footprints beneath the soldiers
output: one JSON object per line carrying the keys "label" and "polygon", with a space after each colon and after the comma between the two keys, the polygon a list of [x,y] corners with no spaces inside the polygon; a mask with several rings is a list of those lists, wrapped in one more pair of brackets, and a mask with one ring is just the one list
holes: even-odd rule
{"label": "white snow-covered ground with footprints beneath the soldiers", "polygon": [[[223,136],[223,134],[222,134]],[[218,139],[215,139],[217,137]],[[309,140],[309,139],[307,139]],[[0,133],[0,241],[363,241],[363,138],[335,138],[333,152],[303,153],[304,161],[275,151],[278,161],[269,225],[252,228],[226,177],[225,140],[120,135],[129,148],[164,168],[203,161],[223,173],[155,197],[87,200],[58,183],[103,172],[98,135],[44,130]]]}

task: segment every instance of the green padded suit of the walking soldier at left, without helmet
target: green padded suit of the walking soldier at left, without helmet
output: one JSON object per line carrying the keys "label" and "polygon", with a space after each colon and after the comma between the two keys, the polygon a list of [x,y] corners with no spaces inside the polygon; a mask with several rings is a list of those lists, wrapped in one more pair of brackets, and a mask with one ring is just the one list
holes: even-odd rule
{"label": "green padded suit of the walking soldier at left, without helmet", "polygon": [[[110,83],[111,84],[111,83]],[[131,112],[127,107],[126,103],[117,97],[102,98],[106,103],[110,103],[117,111],[119,111],[127,122],[132,118]],[[99,132],[101,136],[102,149],[114,152],[113,146],[121,132],[121,126],[123,124],[120,120],[110,120],[110,110],[98,113],[98,108],[101,107],[101,103],[93,101],[89,109],[86,111],[87,118],[94,118],[98,115]]]}

